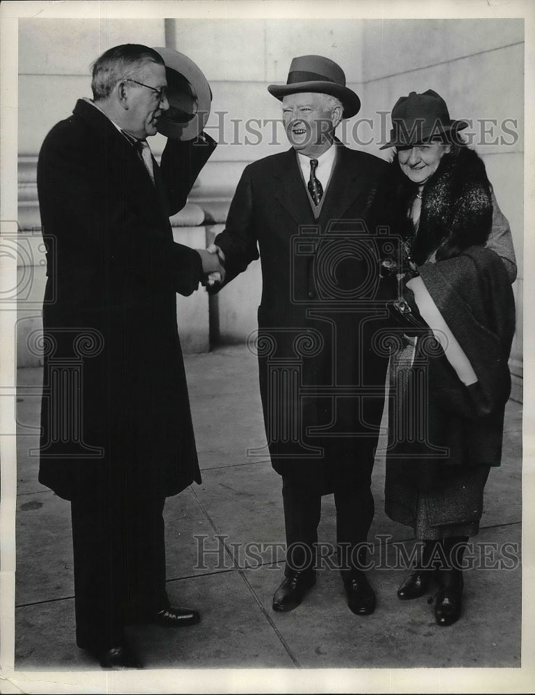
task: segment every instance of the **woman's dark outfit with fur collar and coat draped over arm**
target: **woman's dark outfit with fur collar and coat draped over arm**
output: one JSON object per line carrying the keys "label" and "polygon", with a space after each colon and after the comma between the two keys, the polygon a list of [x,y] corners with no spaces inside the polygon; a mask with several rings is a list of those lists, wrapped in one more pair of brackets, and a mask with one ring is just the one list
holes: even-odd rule
{"label": "woman's dark outfit with fur collar and coat draped over arm", "polygon": [[[404,347],[402,338],[413,330],[393,326],[398,349],[390,369],[385,509],[394,521],[413,526],[418,500],[426,495],[429,525],[463,525],[482,515],[484,479],[469,482],[467,468],[499,466],[502,456],[513,291],[500,256],[484,246],[493,206],[484,163],[475,152],[463,148],[443,156],[424,188],[416,234],[406,215],[413,195],[393,167],[373,206],[382,215],[386,206],[389,215],[397,210],[392,227],[397,224],[410,245],[418,273],[477,382],[461,382],[425,323],[415,332],[414,350]],[[404,296],[418,312],[408,288]]]}

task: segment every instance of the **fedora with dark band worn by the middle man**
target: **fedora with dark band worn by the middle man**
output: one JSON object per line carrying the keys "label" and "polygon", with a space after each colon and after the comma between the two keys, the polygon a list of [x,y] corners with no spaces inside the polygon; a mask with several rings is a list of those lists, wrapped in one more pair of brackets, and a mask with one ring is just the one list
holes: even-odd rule
{"label": "fedora with dark band worn by the middle man", "polygon": [[293,58],[286,85],[269,85],[268,92],[279,101],[299,92],[331,95],[342,102],[343,118],[351,118],[361,108],[359,97],[345,86],[345,74],[340,65],[323,56]]}

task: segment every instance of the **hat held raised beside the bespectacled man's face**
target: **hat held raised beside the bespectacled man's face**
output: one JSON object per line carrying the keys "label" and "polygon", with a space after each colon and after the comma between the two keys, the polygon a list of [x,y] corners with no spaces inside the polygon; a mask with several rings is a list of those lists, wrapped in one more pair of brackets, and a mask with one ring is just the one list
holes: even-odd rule
{"label": "hat held raised beside the bespectacled man's face", "polygon": [[158,133],[172,140],[193,140],[204,129],[212,101],[206,77],[179,51],[155,48],[165,63],[169,109],[158,119]]}

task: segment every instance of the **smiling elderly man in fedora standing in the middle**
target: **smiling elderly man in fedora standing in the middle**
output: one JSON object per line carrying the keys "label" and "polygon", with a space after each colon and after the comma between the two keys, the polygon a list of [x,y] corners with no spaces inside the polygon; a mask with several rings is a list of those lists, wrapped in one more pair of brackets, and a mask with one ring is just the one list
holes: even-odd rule
{"label": "smiling elderly man in fedora standing in the middle", "polygon": [[224,261],[227,281],[261,258],[260,388],[286,526],[273,610],[295,609],[314,586],[322,495],[334,493],[349,609],[365,615],[375,610],[366,541],[386,375],[373,347],[379,264],[365,216],[388,165],[335,138],[360,101],[333,60],[294,58],[286,85],[268,90],[282,102],[292,147],[245,168],[226,229],[208,250]]}

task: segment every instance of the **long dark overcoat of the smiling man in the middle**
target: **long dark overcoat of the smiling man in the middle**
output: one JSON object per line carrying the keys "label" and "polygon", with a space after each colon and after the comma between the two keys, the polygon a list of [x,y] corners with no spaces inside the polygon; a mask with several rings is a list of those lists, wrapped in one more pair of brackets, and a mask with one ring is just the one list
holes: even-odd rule
{"label": "long dark overcoat of the smiling man in the middle", "polygon": [[278,473],[359,465],[377,443],[386,358],[374,346],[380,243],[365,227],[386,163],[336,145],[315,219],[293,149],[250,164],[215,243],[227,281],[258,258],[258,363],[265,428]]}

